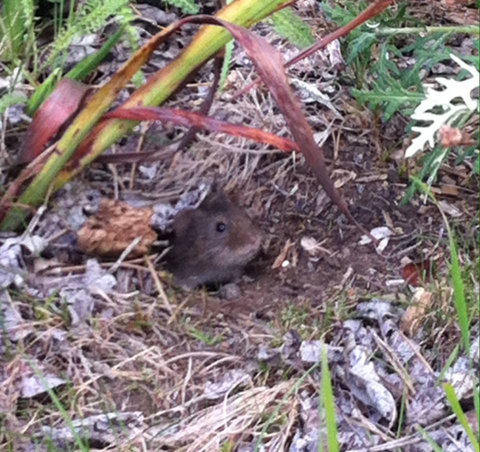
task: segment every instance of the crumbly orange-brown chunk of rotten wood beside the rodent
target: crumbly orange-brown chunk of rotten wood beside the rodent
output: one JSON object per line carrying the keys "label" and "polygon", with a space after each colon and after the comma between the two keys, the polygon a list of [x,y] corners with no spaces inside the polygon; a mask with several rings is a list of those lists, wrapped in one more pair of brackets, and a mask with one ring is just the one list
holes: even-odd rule
{"label": "crumbly orange-brown chunk of rotten wood beside the rodent", "polygon": [[78,231],[77,245],[87,254],[117,257],[136,237],[141,237],[129,255],[146,254],[156,239],[150,226],[152,214],[149,207],[133,208],[125,202],[102,199],[98,212]]}

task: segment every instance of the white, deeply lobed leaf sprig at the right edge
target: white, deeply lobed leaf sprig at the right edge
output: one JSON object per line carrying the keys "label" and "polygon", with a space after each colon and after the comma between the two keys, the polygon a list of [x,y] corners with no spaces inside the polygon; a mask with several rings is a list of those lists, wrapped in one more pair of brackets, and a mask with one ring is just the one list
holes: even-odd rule
{"label": "white, deeply lobed leaf sprig at the right edge", "polygon": [[[426,96],[415,108],[411,118],[417,121],[431,122],[431,124],[411,128],[412,131],[420,134],[413,138],[411,144],[406,148],[405,157],[411,157],[423,150],[425,143],[433,148],[435,133],[443,124],[451,125],[460,115],[470,114],[478,109],[478,100],[471,97],[471,91],[480,85],[480,74],[475,67],[466,64],[457,56],[450,54],[450,57],[472,76],[464,80],[437,77],[436,82],[445,86],[443,90],[434,89],[431,84],[424,85]],[[463,103],[452,103],[452,100],[457,98],[461,98]],[[440,113],[429,111],[435,106],[441,106],[443,111]]]}

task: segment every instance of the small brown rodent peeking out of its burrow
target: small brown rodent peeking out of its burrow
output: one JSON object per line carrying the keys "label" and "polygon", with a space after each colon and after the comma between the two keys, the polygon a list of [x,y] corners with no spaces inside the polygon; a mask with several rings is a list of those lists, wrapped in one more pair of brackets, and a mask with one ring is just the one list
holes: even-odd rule
{"label": "small brown rodent peeking out of its burrow", "polygon": [[238,278],[260,249],[261,229],[220,189],[173,220],[167,269],[175,283],[194,288]]}

